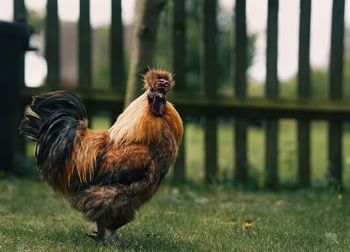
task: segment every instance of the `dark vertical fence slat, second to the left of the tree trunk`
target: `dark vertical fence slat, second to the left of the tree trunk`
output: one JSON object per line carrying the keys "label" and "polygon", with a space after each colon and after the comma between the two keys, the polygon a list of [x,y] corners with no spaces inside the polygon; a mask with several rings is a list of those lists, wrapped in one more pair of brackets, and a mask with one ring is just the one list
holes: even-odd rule
{"label": "dark vertical fence slat, second to the left of the tree trunk", "polygon": [[91,26],[90,0],[80,0],[78,58],[78,83],[80,88],[91,87]]}

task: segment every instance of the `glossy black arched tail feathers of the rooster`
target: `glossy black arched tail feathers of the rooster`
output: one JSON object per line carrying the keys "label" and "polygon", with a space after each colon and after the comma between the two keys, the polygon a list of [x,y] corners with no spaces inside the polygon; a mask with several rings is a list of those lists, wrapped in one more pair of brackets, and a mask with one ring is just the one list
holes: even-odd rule
{"label": "glossy black arched tail feathers of the rooster", "polygon": [[44,164],[60,169],[70,157],[75,132],[87,127],[85,107],[74,94],[56,91],[33,97],[30,108],[19,132],[37,144],[39,169]]}

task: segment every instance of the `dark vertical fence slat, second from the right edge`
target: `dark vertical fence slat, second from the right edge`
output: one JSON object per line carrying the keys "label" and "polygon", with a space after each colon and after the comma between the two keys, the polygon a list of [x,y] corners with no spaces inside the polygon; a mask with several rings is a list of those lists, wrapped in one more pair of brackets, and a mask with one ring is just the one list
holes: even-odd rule
{"label": "dark vertical fence slat, second from the right edge", "polygon": [[[310,97],[310,19],[311,0],[300,0],[298,96]],[[298,120],[298,180],[310,185],[310,120]]]}

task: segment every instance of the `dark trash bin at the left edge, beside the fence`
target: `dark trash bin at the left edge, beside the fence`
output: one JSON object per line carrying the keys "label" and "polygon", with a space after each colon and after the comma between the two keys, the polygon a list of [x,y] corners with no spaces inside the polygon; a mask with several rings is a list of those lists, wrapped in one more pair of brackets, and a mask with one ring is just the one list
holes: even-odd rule
{"label": "dark trash bin at the left edge, beside the fence", "polygon": [[0,21],[0,170],[14,168],[24,54],[31,34],[32,29],[25,24]]}

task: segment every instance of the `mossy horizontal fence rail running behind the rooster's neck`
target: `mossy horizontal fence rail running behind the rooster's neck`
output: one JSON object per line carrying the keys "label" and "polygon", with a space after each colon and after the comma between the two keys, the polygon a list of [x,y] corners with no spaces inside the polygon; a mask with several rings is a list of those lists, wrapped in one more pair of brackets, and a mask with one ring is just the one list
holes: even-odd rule
{"label": "mossy horizontal fence rail running behind the rooster's neck", "polygon": [[[24,88],[21,96],[30,102],[31,96],[53,91],[47,86],[42,88]],[[113,108],[123,102],[121,94],[106,90],[81,90],[67,88],[79,97],[95,101],[99,108]],[[208,97],[199,94],[169,92],[167,98],[181,111],[181,115],[216,115],[239,116],[243,118],[276,119],[276,118],[308,118],[315,120],[350,121],[350,101],[332,99],[277,98],[265,97],[236,98],[217,95]]]}

